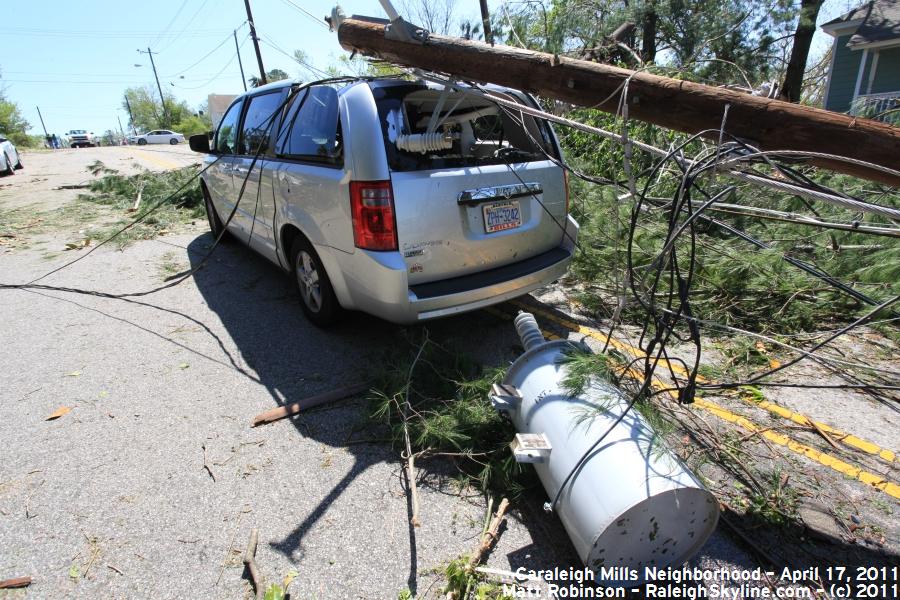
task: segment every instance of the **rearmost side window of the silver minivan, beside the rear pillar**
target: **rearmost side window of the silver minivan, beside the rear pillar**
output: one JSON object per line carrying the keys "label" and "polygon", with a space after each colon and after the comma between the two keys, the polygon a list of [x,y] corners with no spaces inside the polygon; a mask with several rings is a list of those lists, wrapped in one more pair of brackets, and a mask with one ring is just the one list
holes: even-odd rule
{"label": "rearmost side window of the silver minivan, beside the rear pillar", "polygon": [[297,94],[278,132],[278,156],[340,164],[342,146],[337,90],[323,85]]}

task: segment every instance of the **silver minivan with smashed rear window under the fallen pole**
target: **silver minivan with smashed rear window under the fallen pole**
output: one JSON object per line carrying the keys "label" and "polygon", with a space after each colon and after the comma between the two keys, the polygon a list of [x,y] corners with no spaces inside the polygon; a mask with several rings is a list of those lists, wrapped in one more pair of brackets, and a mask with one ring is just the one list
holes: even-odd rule
{"label": "silver minivan with smashed rear window under the fallen pole", "polygon": [[210,228],[292,273],[318,325],[341,309],[415,323],[558,279],[578,235],[559,143],[476,91],[357,79],[239,96],[212,140],[191,138]]}

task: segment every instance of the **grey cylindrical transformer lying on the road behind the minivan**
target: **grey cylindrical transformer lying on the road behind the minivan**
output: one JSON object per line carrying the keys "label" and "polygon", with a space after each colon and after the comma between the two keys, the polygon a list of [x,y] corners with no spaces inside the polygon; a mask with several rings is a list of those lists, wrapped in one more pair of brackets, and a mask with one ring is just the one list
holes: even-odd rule
{"label": "grey cylindrical transformer lying on the road behind the minivan", "polygon": [[[519,433],[549,441],[549,455],[534,467],[552,500],[628,400],[596,378],[571,397],[561,386],[562,360],[575,345],[544,341],[527,313],[516,319],[516,328],[526,352],[503,383],[517,388],[521,399],[498,408]],[[643,583],[644,567],[681,566],[715,530],[719,505],[632,409],[572,476],[555,512],[597,581],[618,586]],[[639,580],[611,567],[634,569]]]}

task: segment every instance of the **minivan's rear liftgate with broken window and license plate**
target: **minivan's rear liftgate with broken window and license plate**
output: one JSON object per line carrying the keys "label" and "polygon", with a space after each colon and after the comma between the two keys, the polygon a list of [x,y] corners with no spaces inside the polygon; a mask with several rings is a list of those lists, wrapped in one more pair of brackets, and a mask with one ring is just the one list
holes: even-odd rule
{"label": "minivan's rear liftgate with broken window and license plate", "polygon": [[422,84],[377,92],[411,285],[505,266],[560,245],[566,184],[551,160],[558,150],[545,123]]}

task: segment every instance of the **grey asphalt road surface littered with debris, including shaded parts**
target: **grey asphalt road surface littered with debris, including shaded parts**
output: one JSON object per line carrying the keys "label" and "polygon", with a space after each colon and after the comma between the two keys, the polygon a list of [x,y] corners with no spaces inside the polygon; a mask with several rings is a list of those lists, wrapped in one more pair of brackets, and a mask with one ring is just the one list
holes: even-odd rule
{"label": "grey asphalt road surface littered with debris, including shaded parts", "polygon": [[[55,188],[88,179],[97,159],[124,170],[196,162],[184,146],[24,158],[24,171],[0,180],[0,210],[67,202],[71,192]],[[0,279],[28,281],[68,260],[47,258],[61,239],[0,254]],[[210,243],[198,223],[101,249],[43,283],[146,290]],[[29,597],[247,597],[240,555],[258,528],[262,573],[272,582],[296,571],[295,598],[396,598],[405,587],[436,598],[435,571],[477,545],[484,500],[460,493],[440,460],[422,465],[422,525],[409,526],[399,450],[367,441],[364,401],[249,427],[263,410],[365,380],[408,332],[365,315],[311,326],[287,278],[239,244],[152,296],[0,291],[0,313],[0,579],[33,577]],[[511,324],[484,312],[429,330],[487,364],[517,355]],[[47,420],[60,407],[71,410]],[[490,566],[580,566],[541,501],[515,507]],[[721,528],[692,564],[756,566]]]}

